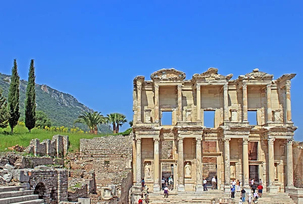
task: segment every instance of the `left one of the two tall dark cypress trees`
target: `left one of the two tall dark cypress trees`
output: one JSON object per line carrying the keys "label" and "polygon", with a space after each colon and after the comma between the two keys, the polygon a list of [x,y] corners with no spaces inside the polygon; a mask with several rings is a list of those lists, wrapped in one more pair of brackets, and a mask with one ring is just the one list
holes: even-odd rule
{"label": "left one of the two tall dark cypress trees", "polygon": [[19,80],[20,77],[18,75],[17,70],[17,61],[14,59],[14,66],[12,68],[12,78],[11,78],[11,85],[9,89],[9,124],[11,127],[11,133],[13,134],[14,127],[18,123],[18,119],[20,117],[19,112]]}

